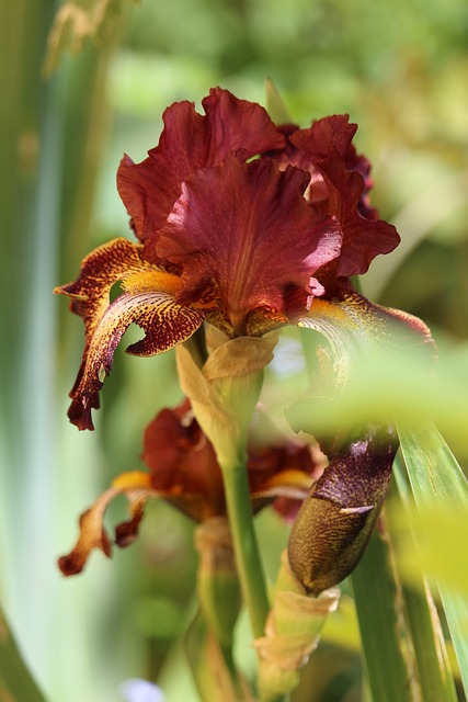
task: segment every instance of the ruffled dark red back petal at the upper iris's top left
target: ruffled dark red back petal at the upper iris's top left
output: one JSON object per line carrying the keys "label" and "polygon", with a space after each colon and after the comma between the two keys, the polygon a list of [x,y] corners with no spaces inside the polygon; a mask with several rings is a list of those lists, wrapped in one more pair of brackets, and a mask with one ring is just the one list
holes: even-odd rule
{"label": "ruffled dark red back petal at the upper iris's top left", "polygon": [[285,144],[266,111],[256,103],[216,88],[202,104],[205,115],[198,114],[191,102],[168,107],[159,145],[141,163],[125,156],[118,169],[118,192],[152,262],[158,262],[156,233],[178,200],[183,180],[201,168],[218,165],[228,154],[247,159]]}

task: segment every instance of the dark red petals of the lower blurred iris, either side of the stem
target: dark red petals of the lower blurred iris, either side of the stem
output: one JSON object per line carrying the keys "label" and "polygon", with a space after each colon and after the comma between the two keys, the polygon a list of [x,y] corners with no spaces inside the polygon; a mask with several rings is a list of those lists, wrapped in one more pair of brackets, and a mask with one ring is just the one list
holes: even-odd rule
{"label": "dark red petals of the lower blurred iris, either side of the stem", "polygon": [[[255,415],[249,438],[248,478],[254,512],[284,496],[281,513],[297,512],[319,464],[307,444],[281,435],[263,415]],[[162,409],[145,431],[142,460],[151,487],[189,517],[202,522],[226,513],[222,477],[215,451],[193,416],[190,400]],[[276,502],[274,502],[276,506]]]}

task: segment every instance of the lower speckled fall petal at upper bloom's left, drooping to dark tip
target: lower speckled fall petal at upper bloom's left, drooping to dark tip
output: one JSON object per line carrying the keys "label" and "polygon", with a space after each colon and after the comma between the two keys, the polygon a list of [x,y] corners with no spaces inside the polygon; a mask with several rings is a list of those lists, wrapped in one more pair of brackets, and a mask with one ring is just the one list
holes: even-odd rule
{"label": "lower speckled fall petal at upper bloom's left, drooping to dark tip", "polygon": [[126,329],[136,324],[145,330],[140,341],[128,347],[133,355],[155,355],[189,339],[203,324],[202,310],[179,305],[168,293],[124,293],[110,305],[84,350],[70,397],[68,417],[79,429],[94,429],[91,409],[99,407],[99,390],[111,373],[114,351]]}

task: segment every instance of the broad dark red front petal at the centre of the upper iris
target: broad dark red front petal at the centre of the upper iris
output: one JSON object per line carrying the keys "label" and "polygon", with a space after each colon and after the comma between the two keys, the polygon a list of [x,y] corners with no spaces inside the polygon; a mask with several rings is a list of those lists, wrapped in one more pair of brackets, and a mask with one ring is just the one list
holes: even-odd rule
{"label": "broad dark red front petal at the centre of the upper iris", "polygon": [[288,301],[298,304],[292,288],[303,291],[305,309],[322,292],[311,275],[341,245],[334,218],[307,205],[307,182],[299,169],[232,156],[190,177],[157,245],[161,258],[182,265],[178,301],[190,305],[217,290],[237,333],[246,333],[253,309],[289,312]]}

